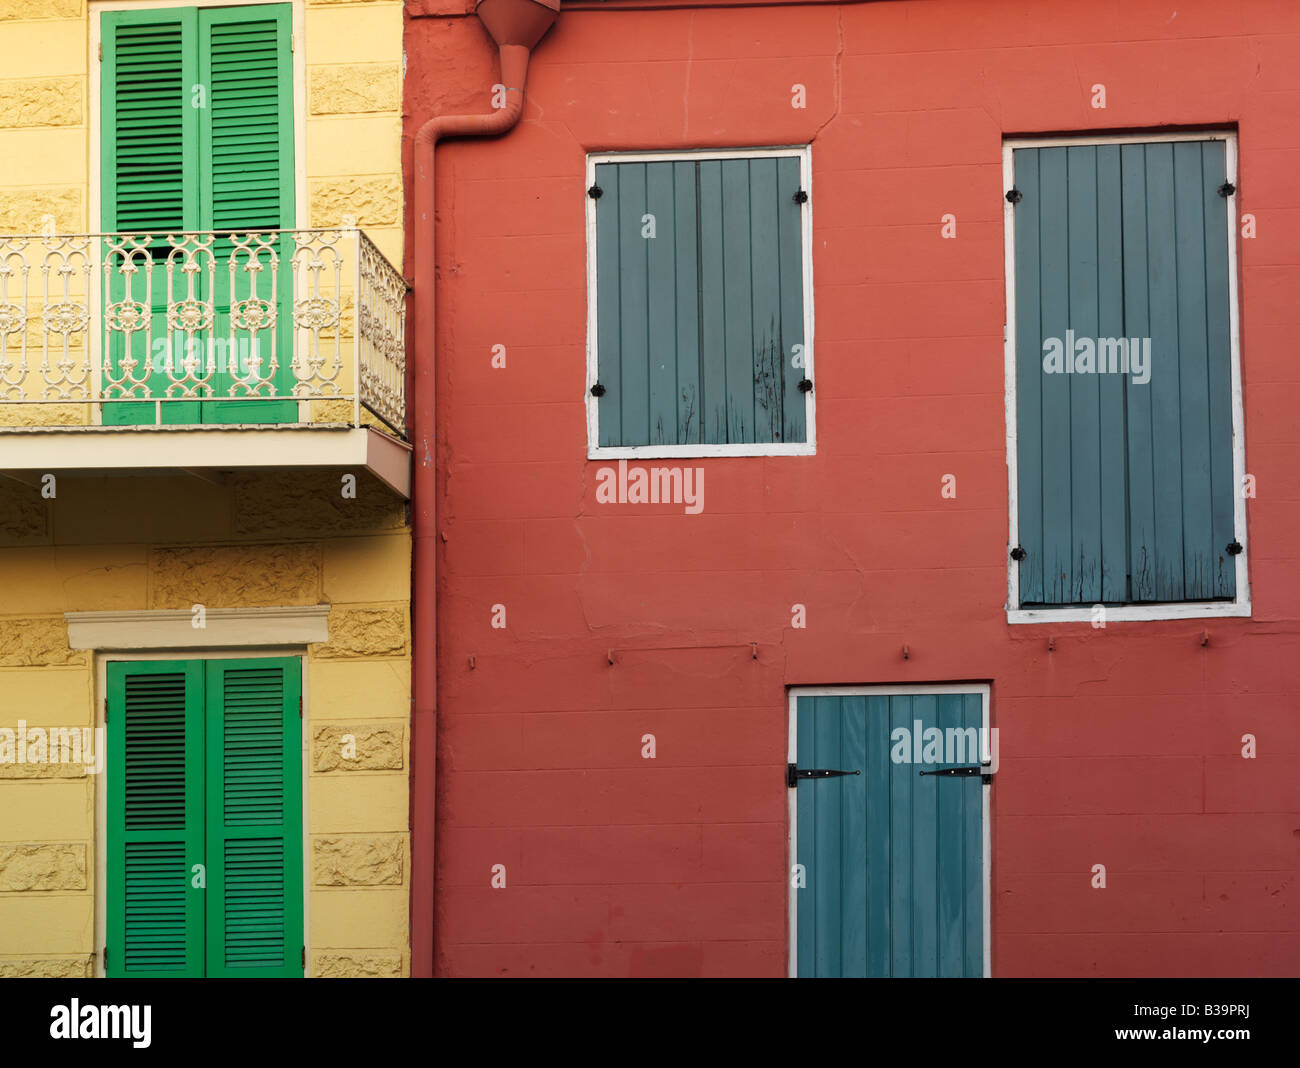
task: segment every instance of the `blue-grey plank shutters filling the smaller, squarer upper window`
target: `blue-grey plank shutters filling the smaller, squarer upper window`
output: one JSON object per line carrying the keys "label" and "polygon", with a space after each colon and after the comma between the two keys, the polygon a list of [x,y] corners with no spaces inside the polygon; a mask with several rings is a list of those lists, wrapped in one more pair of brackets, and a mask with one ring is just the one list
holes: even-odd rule
{"label": "blue-grey plank shutters filling the smaller, squarer upper window", "polygon": [[599,443],[806,440],[798,160],[599,164],[595,183]]}

